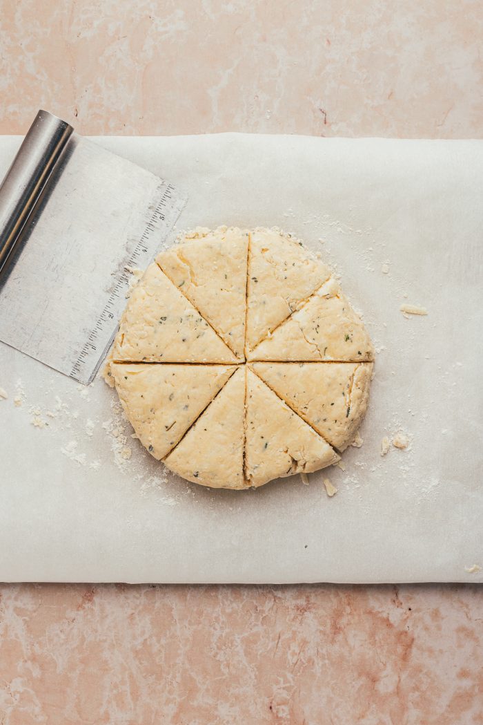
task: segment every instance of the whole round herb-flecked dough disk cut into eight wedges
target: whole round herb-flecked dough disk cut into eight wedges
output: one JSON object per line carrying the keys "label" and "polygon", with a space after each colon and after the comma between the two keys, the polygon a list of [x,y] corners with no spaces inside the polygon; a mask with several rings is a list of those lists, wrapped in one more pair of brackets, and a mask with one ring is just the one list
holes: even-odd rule
{"label": "whole round herb-flecked dough disk cut into eight wedges", "polygon": [[127,303],[110,380],[141,444],[188,481],[263,486],[337,463],[374,350],[325,265],[276,229],[198,228]]}

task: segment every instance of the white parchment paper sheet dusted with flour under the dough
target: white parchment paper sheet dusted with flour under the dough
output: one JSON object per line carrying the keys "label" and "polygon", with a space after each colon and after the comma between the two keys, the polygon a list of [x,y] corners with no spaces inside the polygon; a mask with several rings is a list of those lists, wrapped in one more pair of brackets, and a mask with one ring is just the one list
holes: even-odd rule
{"label": "white parchment paper sheet dusted with flour under the dough", "polygon": [[[1,345],[0,579],[483,581],[466,571],[483,567],[483,142],[95,140],[188,191],[180,228],[277,225],[335,266],[379,350],[364,445],[308,486],[203,489],[130,439],[103,381]],[[0,175],[19,144],[0,138]],[[409,449],[381,457],[400,430]]]}

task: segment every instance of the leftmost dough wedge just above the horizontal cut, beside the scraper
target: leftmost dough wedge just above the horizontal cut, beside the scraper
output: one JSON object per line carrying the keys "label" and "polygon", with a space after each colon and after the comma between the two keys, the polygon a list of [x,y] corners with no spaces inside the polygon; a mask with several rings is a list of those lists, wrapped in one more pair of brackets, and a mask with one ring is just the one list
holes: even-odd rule
{"label": "leftmost dough wedge just above the horizontal cut, beside the scraper", "polygon": [[191,302],[158,265],[135,286],[122,315],[114,360],[144,363],[236,363]]}

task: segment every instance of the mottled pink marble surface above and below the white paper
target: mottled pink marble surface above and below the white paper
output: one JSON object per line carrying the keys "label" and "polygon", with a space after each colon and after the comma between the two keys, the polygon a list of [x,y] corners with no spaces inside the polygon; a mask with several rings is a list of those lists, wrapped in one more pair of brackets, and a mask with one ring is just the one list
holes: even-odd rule
{"label": "mottled pink marble surface above and below the white paper", "polygon": [[[480,0],[0,0],[0,133],[481,138],[482,31]],[[0,724],[482,725],[482,622],[474,585],[4,584]]]}

